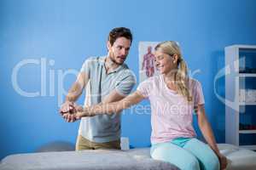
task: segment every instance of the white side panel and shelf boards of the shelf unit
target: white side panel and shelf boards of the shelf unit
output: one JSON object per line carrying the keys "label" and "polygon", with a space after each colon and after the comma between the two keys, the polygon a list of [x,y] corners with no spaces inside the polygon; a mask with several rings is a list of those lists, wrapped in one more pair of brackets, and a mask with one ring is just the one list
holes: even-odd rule
{"label": "white side panel and shelf boards of the shelf unit", "polygon": [[[226,70],[225,75],[225,99],[232,100],[234,104],[232,107],[225,105],[225,142],[228,144],[235,144],[241,148],[256,150],[256,141],[253,141],[254,144],[250,145],[242,145],[240,141],[241,135],[256,134],[256,129],[239,129],[241,114],[247,114],[246,112],[241,113],[241,107],[255,105],[256,108],[256,101],[241,102],[239,100],[241,89],[240,79],[249,77],[255,78],[256,81],[256,73],[240,73],[239,71],[241,68],[241,58],[239,55],[242,50],[253,51],[253,53],[255,51],[256,54],[256,45],[232,45],[225,48],[225,65],[228,65],[229,67],[229,71]],[[245,66],[244,63],[242,65]],[[256,67],[256,65],[254,66]]]}

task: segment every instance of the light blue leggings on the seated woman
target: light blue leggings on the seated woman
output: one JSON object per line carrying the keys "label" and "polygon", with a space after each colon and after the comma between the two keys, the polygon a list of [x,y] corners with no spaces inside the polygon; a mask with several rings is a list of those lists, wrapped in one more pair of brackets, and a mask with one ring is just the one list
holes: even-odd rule
{"label": "light blue leggings on the seated woman", "polygon": [[218,157],[207,144],[195,138],[153,144],[150,155],[155,160],[168,161],[181,170],[219,170]]}

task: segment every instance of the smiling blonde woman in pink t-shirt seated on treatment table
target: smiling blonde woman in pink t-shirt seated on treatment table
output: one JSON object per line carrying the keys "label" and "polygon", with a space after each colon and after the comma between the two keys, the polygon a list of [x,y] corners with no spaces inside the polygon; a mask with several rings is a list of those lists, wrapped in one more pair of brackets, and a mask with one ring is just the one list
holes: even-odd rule
{"label": "smiling blonde woman in pink t-shirt seated on treatment table", "polygon": [[[67,122],[73,122],[82,116],[118,114],[147,98],[152,111],[150,154],[154,159],[169,161],[182,170],[224,169],[227,159],[220,154],[207,121],[201,83],[188,77],[187,65],[179,46],[172,41],[161,42],[155,47],[154,55],[160,76],[141,82],[137,91],[125,99],[86,107],[73,115],[67,114],[64,116]],[[192,126],[195,107],[198,125],[207,144],[195,138]]]}

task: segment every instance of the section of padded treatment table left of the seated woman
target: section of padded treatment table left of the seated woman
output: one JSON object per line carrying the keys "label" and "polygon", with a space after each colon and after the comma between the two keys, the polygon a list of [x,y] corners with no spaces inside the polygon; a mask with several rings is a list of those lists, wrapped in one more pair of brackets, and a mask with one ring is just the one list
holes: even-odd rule
{"label": "section of padded treatment table left of the seated woman", "polygon": [[149,148],[82,150],[15,154],[3,158],[1,170],[176,170],[174,165],[150,158]]}

